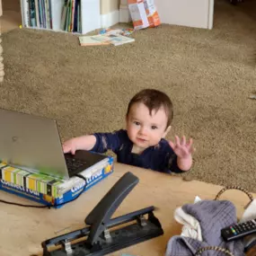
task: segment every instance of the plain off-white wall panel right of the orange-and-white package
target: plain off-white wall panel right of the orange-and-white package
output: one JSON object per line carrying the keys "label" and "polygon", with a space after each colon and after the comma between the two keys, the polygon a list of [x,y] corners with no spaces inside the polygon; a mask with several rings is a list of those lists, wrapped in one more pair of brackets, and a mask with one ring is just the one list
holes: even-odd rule
{"label": "plain off-white wall panel right of the orange-and-white package", "polygon": [[162,23],[212,29],[214,0],[154,0]]}

